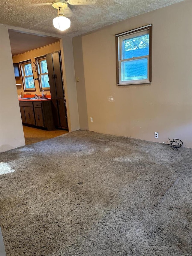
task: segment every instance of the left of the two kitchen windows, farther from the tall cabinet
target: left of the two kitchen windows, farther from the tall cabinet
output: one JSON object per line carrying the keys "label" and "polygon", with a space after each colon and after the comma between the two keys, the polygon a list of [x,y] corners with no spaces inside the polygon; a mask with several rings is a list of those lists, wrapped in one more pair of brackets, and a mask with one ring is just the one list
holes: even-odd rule
{"label": "left of the two kitchen windows, farther from the tall cabinet", "polygon": [[24,91],[35,91],[31,61],[20,62]]}

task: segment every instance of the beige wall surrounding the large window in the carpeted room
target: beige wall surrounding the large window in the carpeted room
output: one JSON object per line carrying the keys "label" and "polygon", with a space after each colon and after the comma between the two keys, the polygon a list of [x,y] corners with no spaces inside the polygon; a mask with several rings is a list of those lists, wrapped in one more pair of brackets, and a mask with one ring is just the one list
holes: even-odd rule
{"label": "beige wall surrounding the large window in the carpeted room", "polygon": [[[91,131],[161,143],[179,138],[192,147],[191,13],[192,1],[184,1],[106,26],[82,36],[82,51],[73,38],[75,75],[85,78],[76,85],[82,127],[88,115]],[[152,84],[117,86],[115,34],[151,23]]]}

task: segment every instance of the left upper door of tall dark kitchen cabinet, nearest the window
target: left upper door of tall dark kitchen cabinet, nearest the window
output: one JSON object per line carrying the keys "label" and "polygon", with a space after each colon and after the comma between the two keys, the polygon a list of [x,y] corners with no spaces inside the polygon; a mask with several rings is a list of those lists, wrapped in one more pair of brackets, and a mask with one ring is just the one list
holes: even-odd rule
{"label": "left upper door of tall dark kitchen cabinet, nearest the window", "polygon": [[51,97],[57,98],[52,53],[46,54],[46,61],[47,61],[47,70],[48,70],[48,76],[49,76],[49,86],[50,86]]}

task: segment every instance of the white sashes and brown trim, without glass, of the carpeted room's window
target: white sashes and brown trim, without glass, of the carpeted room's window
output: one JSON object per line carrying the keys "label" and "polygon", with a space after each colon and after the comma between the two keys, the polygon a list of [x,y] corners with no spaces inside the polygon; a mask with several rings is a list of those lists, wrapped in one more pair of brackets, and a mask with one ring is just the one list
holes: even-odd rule
{"label": "white sashes and brown trim, without glass, of the carpeted room's window", "polygon": [[[123,59],[122,49],[123,41],[129,38],[135,38],[140,35],[149,34],[149,55]],[[124,81],[121,77],[122,63],[137,59],[147,59],[147,79]],[[152,82],[152,24],[131,31],[123,32],[116,35],[116,66],[117,66],[117,85],[132,85]]]}

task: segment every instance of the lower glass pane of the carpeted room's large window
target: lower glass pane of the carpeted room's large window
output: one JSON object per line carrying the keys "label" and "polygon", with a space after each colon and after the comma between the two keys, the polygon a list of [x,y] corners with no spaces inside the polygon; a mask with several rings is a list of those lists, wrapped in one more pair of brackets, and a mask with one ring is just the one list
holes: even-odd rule
{"label": "lower glass pane of the carpeted room's large window", "polygon": [[121,80],[147,79],[147,58],[121,62]]}

